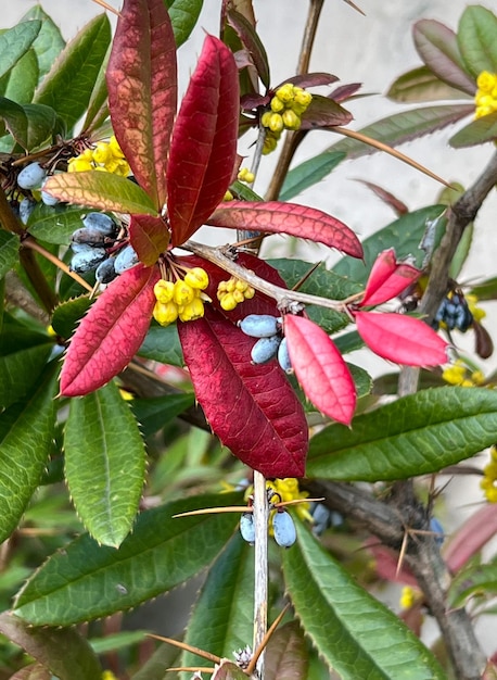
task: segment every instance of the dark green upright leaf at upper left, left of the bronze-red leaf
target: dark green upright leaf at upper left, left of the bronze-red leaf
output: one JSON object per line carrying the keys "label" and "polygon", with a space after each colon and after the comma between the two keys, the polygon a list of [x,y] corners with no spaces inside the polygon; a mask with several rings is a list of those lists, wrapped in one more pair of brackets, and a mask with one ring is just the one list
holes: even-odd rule
{"label": "dark green upright leaf at upper left, left of the bronze-red leaf", "polygon": [[67,129],[88,106],[110,42],[109,18],[100,14],[66,45],[36,92],[34,101],[54,109]]}

